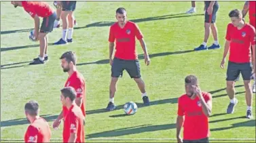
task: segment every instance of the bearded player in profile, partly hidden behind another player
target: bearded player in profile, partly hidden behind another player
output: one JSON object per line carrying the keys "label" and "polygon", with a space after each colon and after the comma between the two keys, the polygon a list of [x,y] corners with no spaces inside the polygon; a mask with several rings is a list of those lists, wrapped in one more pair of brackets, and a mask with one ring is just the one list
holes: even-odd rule
{"label": "bearded player in profile, partly hidden behind another player", "polygon": [[[75,66],[77,63],[75,52],[65,52],[60,57],[60,60],[63,71],[69,74],[65,87],[73,87],[75,89],[77,93],[75,103],[81,108],[84,117],[86,117],[86,82],[83,75],[77,71]],[[62,106],[62,112],[53,123],[54,129],[58,129],[61,120],[66,117],[67,113],[68,109],[65,106]]]}

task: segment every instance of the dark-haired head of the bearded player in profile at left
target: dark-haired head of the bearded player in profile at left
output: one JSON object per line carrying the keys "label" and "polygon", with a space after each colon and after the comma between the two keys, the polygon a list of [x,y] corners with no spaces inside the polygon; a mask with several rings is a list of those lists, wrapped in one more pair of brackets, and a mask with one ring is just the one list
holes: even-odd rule
{"label": "dark-haired head of the bearded player in profile at left", "polygon": [[63,68],[64,72],[69,72],[73,66],[75,66],[77,62],[77,56],[75,56],[75,52],[65,52],[60,57],[61,60],[61,67]]}

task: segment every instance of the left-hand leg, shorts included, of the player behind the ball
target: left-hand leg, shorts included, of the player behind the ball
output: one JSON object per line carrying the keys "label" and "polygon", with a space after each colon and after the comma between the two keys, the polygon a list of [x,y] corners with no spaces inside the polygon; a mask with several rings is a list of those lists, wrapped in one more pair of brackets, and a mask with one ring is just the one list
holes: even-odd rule
{"label": "left-hand leg, shorts included, of the player behind the ball", "polygon": [[117,81],[119,77],[122,77],[123,75],[123,64],[124,61],[114,58],[113,64],[111,66],[111,81],[109,85],[109,104],[107,104],[107,110],[114,110],[115,104],[114,104],[114,97],[115,97],[115,91],[117,89]]}

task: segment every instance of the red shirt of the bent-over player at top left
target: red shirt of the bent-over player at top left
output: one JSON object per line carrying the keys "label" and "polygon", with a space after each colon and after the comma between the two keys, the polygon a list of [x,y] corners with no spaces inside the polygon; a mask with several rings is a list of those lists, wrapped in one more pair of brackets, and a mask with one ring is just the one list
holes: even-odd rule
{"label": "red shirt of the bent-over player at top left", "polygon": [[24,10],[28,12],[32,18],[34,18],[35,15],[41,18],[47,18],[54,13],[54,9],[43,1],[22,1],[21,3]]}

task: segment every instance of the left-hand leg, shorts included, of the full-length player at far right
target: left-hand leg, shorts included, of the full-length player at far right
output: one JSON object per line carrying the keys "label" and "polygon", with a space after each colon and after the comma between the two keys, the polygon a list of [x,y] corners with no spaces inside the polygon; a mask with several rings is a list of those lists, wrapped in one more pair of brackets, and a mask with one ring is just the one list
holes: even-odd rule
{"label": "left-hand leg, shorts included, of the full-length player at far right", "polygon": [[227,106],[227,114],[234,113],[235,106],[238,104],[238,100],[235,97],[235,82],[238,80],[240,74],[238,64],[234,62],[228,62],[227,65],[227,96],[230,98],[230,104]]}

